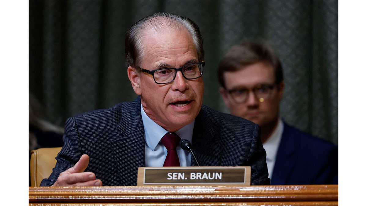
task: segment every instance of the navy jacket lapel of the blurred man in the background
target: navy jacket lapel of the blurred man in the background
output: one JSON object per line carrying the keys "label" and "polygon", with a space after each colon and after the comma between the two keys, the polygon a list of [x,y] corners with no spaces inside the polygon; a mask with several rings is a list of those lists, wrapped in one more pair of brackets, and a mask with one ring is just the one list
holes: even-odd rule
{"label": "navy jacket lapel of the blurred man in the background", "polygon": [[281,136],[276,161],[274,165],[273,175],[271,178],[272,185],[287,184],[288,178],[293,170],[296,155],[295,142],[289,126],[284,122],[284,130]]}

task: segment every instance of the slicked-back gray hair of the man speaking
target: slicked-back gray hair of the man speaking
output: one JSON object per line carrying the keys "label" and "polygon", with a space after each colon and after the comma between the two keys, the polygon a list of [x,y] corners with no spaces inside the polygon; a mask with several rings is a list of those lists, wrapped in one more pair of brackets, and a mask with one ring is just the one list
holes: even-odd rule
{"label": "slicked-back gray hair of the man speaking", "polygon": [[204,60],[203,37],[199,27],[191,19],[172,13],[155,13],[139,20],[132,25],[125,38],[125,60],[128,66],[138,68],[142,60],[142,38],[147,28],[161,29],[186,29],[192,37],[196,48],[198,60]]}

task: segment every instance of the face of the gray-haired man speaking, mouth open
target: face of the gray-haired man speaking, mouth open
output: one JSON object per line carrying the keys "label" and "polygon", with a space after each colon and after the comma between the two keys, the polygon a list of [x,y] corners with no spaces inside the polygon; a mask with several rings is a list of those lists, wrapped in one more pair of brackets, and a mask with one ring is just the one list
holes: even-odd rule
{"label": "face of the gray-haired man speaking, mouth open", "polygon": [[[198,62],[192,38],[186,31],[148,30],[142,45],[143,69],[180,68]],[[132,67],[128,68],[128,75],[135,93],[141,95],[145,113],[169,132],[190,124],[199,114],[204,94],[202,77],[186,80],[178,71],[173,82],[156,84],[152,75],[136,73]]]}

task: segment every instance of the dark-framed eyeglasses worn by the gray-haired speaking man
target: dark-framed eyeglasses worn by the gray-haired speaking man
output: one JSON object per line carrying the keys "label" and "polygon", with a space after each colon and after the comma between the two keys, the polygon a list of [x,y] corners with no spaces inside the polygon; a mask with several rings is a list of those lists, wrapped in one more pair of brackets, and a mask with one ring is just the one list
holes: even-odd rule
{"label": "dark-framed eyeglasses worn by the gray-haired speaking man", "polygon": [[152,75],[154,81],[157,84],[168,84],[175,80],[177,71],[181,71],[182,76],[185,77],[186,80],[195,80],[203,76],[204,66],[205,62],[197,62],[185,65],[178,69],[162,68],[156,70],[146,70],[139,67],[139,70]]}

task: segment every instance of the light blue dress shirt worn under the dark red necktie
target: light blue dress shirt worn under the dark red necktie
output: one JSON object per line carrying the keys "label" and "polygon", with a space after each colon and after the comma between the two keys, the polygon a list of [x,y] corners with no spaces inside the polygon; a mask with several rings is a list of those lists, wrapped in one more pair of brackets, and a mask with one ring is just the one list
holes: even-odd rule
{"label": "light blue dress shirt worn under the dark red necktie", "polygon": [[[140,104],[141,117],[144,125],[144,139],[145,139],[145,166],[146,167],[162,167],[167,156],[167,148],[161,143],[161,139],[167,130],[163,129],[157,123],[146,115],[143,106]],[[192,141],[192,133],[194,130],[195,120],[183,128],[177,130],[175,133],[181,139]],[[180,146],[176,148],[178,159],[181,166],[191,165],[191,153],[183,150]]]}

